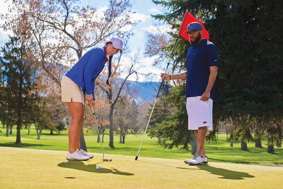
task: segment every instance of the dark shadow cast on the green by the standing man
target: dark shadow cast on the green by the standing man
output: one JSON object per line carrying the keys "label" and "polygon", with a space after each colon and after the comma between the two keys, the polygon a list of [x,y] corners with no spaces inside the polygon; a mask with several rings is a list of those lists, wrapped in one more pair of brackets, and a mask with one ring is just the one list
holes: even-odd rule
{"label": "dark shadow cast on the green by the standing man", "polygon": [[197,167],[200,168],[200,170],[210,172],[208,174],[219,175],[219,176],[222,176],[222,177],[219,177],[219,178],[224,178],[224,179],[242,180],[242,179],[245,179],[245,178],[254,178],[255,177],[253,175],[250,175],[249,173],[231,171],[231,170],[228,170],[228,169],[211,167],[209,165],[202,165],[202,166],[197,166]]}

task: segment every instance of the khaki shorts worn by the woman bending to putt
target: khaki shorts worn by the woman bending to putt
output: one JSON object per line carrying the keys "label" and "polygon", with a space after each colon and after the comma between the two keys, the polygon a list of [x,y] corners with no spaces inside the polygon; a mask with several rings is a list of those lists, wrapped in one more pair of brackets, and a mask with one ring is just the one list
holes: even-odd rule
{"label": "khaki shorts worn by the woman bending to putt", "polygon": [[63,75],[61,80],[62,102],[81,102],[84,105],[82,88],[69,77]]}

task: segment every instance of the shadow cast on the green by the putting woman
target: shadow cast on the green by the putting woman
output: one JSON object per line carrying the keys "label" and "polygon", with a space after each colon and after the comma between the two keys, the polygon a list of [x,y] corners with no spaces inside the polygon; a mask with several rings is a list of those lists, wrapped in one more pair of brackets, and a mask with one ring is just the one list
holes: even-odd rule
{"label": "shadow cast on the green by the putting woman", "polygon": [[112,173],[112,174],[115,174],[115,175],[125,175],[125,176],[134,175],[132,173],[126,173],[126,172],[119,171],[118,169],[115,169],[115,168],[112,168],[112,169],[100,168],[100,170],[97,170],[96,164],[85,165],[82,161],[75,161],[75,160],[69,160],[68,162],[59,163],[58,166],[63,167],[63,168],[70,168],[70,169],[77,169],[77,170],[81,170],[81,171],[88,171],[88,172],[92,172],[92,173]]}

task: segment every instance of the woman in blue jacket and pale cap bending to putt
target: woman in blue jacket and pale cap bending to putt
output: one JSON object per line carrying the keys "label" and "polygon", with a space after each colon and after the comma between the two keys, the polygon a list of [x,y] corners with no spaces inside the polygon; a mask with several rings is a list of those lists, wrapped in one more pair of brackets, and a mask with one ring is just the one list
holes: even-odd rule
{"label": "woman in blue jacket and pale cap bending to putt", "polygon": [[[80,148],[81,122],[83,120],[84,99],[91,108],[95,106],[95,79],[108,61],[111,70],[112,56],[119,51],[122,53],[123,41],[113,37],[104,47],[94,47],[88,50],[62,77],[62,102],[67,102],[71,114],[68,128],[69,152],[68,160],[88,160],[93,155],[87,154]],[[108,79],[111,73],[109,71]],[[109,84],[108,80],[106,82]]]}

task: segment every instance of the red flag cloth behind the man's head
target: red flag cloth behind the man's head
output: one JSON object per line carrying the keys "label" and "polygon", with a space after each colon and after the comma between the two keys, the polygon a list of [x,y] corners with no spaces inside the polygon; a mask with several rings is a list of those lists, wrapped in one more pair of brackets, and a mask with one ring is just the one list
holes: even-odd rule
{"label": "red flag cloth behind the man's head", "polygon": [[187,31],[187,26],[189,25],[189,23],[191,22],[198,22],[202,25],[202,37],[203,38],[207,38],[207,40],[209,40],[209,35],[208,32],[206,31],[206,29],[204,28],[203,24],[201,21],[199,21],[197,18],[195,18],[194,16],[192,16],[188,10],[186,10],[185,12],[185,16],[183,18],[180,30],[178,35],[182,36],[183,38],[185,38],[187,41],[190,41],[190,37],[187,33],[184,33],[185,31]]}

